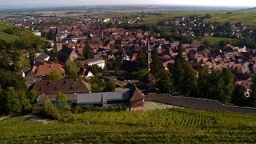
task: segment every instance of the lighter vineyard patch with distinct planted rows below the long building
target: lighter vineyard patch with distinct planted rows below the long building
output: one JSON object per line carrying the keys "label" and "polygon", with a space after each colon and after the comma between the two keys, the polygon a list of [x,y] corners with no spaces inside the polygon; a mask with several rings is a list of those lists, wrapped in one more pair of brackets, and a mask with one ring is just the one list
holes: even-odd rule
{"label": "lighter vineyard patch with distinct planted rows below the long building", "polygon": [[74,118],[78,122],[110,122],[153,126],[214,126],[214,117],[191,114],[185,110],[151,110],[133,112],[86,112]]}

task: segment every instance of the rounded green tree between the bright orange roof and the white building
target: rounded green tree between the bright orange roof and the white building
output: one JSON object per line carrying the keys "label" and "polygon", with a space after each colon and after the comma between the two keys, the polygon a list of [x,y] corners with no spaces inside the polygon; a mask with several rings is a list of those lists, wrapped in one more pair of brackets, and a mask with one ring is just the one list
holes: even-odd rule
{"label": "rounded green tree between the bright orange roof and the white building", "polygon": [[65,67],[66,78],[78,78],[78,72],[80,69],[75,65],[74,62],[71,62],[70,60],[68,60],[66,61],[64,67]]}

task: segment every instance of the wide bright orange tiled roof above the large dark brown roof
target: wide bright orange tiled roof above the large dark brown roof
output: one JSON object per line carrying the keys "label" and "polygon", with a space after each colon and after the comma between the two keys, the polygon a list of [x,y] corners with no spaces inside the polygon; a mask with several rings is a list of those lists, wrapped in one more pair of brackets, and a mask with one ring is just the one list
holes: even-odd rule
{"label": "wide bright orange tiled roof above the large dark brown roof", "polygon": [[42,78],[51,72],[56,71],[62,76],[65,76],[64,67],[58,63],[39,65],[38,68],[34,71],[34,77]]}

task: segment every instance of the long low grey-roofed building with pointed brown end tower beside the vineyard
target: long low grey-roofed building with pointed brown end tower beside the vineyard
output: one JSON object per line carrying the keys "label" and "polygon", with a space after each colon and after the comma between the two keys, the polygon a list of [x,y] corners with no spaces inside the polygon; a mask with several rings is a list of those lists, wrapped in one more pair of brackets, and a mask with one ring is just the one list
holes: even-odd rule
{"label": "long low grey-roofed building with pointed brown end tower beside the vineyard", "polygon": [[[49,99],[56,104],[58,94],[40,94],[37,99],[38,106]],[[70,106],[129,106],[135,108],[144,106],[144,95],[134,87],[124,92],[101,92],[101,93],[72,93],[66,94],[67,104]]]}

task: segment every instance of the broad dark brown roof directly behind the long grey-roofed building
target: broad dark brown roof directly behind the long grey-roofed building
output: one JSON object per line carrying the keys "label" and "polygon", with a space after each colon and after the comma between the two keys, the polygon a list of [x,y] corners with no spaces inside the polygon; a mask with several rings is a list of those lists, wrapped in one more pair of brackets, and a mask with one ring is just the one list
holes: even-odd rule
{"label": "broad dark brown roof directly behind the long grey-roofed building", "polygon": [[41,80],[31,86],[37,94],[90,93],[90,84],[82,79]]}

